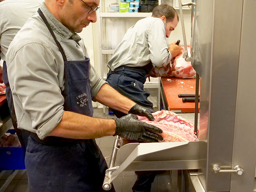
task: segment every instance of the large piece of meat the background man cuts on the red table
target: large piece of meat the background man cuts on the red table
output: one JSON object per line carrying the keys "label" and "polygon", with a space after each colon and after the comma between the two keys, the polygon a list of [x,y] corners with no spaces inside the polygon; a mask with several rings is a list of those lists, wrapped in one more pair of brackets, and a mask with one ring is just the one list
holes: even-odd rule
{"label": "large piece of meat the background man cuts on the red table", "polygon": [[[188,46],[188,54],[190,55],[190,47]],[[177,55],[170,64],[163,67],[153,67],[150,76],[152,77],[176,77],[176,78],[195,78],[195,70],[191,62],[185,61],[182,57],[185,52],[182,47],[182,53]]]}

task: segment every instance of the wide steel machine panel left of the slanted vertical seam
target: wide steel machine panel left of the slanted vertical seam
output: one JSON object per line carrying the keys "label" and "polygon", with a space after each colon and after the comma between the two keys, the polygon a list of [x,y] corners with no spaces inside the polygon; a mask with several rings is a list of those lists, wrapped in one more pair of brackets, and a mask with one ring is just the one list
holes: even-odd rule
{"label": "wide steel machine panel left of the slanted vertical seam", "polygon": [[201,75],[199,176],[206,191],[229,191],[239,66],[241,0],[196,0],[194,68]]}

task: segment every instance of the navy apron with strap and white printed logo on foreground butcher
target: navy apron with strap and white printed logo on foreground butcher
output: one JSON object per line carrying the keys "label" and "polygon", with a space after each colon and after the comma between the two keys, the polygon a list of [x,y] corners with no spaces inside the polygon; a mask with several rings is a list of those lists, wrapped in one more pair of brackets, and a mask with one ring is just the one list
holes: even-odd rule
{"label": "navy apron with strap and white printed logo on foreground butcher", "polygon": [[[39,15],[51,32],[64,59],[64,109],[92,116],[89,58],[67,61],[42,11]],[[25,157],[30,192],[100,192],[107,164],[95,139],[76,140],[35,134],[28,139]],[[112,189],[114,191],[114,188]]]}

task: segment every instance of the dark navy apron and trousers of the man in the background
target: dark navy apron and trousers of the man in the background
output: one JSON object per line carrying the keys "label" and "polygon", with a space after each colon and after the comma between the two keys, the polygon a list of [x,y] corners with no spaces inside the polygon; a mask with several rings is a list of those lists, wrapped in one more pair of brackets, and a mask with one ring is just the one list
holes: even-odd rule
{"label": "dark navy apron and trousers of the man in the background", "polygon": [[[150,94],[144,90],[144,83],[152,67],[150,62],[144,67],[121,66],[114,71],[109,69],[106,81],[122,95],[154,112],[152,102],[147,99]],[[112,111],[118,118],[126,115],[114,109]],[[150,192],[151,183],[154,181],[157,171],[135,171],[135,173],[138,177],[132,187],[133,192]]]}

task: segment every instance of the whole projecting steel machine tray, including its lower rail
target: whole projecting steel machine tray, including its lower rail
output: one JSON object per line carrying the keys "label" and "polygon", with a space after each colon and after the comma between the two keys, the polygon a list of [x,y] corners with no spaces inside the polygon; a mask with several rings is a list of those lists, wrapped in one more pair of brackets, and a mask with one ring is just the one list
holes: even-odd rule
{"label": "whole projecting steel machine tray, including its lower rail", "polygon": [[116,170],[107,182],[122,171],[198,169],[198,145],[198,141],[123,145],[116,156]]}

